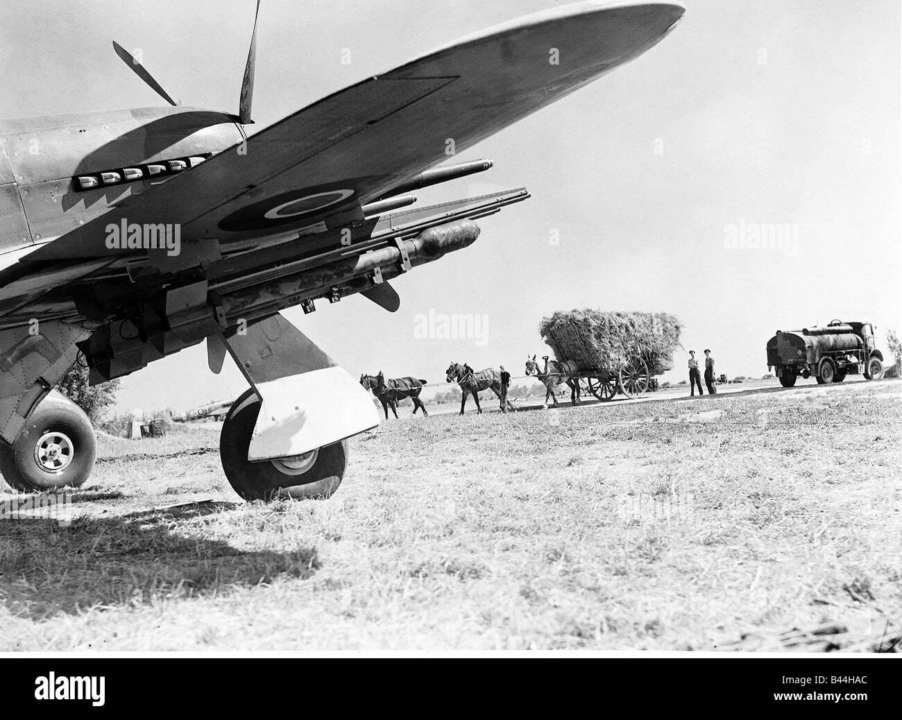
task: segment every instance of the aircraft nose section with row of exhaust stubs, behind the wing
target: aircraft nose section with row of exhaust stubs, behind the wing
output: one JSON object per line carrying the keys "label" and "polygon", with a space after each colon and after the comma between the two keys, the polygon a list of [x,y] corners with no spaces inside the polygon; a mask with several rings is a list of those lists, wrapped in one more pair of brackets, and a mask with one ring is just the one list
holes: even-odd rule
{"label": "aircraft nose section with row of exhaust stubs, behind the wing", "polygon": [[51,242],[243,140],[232,115],[191,107],[0,120],[0,257]]}

